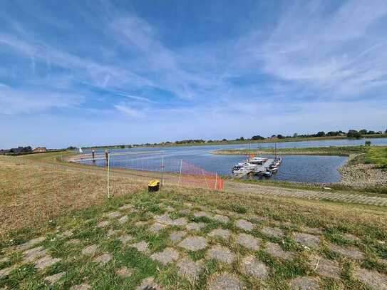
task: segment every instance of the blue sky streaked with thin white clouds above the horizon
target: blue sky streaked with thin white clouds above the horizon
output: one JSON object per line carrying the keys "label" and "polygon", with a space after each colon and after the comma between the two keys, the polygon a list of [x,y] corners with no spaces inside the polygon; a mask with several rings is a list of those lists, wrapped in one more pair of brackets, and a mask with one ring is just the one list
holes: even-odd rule
{"label": "blue sky streaked with thin white clouds above the horizon", "polygon": [[0,147],[387,127],[387,1],[1,1]]}

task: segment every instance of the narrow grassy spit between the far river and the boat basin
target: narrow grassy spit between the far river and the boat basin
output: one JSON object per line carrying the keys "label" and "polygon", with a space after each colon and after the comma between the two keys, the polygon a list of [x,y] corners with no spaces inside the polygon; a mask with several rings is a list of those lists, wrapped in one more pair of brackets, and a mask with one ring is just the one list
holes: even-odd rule
{"label": "narrow grassy spit between the far river and the boat basin", "polygon": [[[372,146],[374,148],[375,146]],[[386,146],[381,146],[379,149],[386,150]],[[214,154],[220,155],[247,155],[249,153],[255,154],[257,150],[249,149],[231,149],[231,150],[217,150]],[[273,148],[259,148],[259,154],[274,154]],[[294,148],[277,148],[279,155],[339,155],[349,156],[351,154],[363,154],[368,152],[368,147],[360,146],[330,146],[330,147],[294,147]],[[376,150],[376,152],[380,152]]]}

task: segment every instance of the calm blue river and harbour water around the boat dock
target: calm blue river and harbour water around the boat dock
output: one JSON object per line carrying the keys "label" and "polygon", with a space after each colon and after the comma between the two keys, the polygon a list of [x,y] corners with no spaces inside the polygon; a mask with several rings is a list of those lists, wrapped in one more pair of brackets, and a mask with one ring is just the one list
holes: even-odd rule
{"label": "calm blue river and harbour water around the boat dock", "polygon": [[[373,145],[387,145],[387,138],[370,139]],[[364,140],[324,140],[308,142],[277,143],[277,147],[320,147],[363,145]],[[190,162],[208,171],[216,171],[222,175],[229,175],[232,166],[245,159],[244,155],[213,155],[214,150],[248,148],[248,144],[239,145],[210,145],[210,146],[181,146],[181,147],[152,147],[110,150],[110,152],[143,152],[140,155],[121,155],[111,158],[113,167],[129,167],[138,170],[159,170],[161,155],[166,172],[177,172],[180,160]],[[252,144],[252,150],[257,147],[273,147],[274,143]],[[90,150],[86,150],[90,152]],[[98,150],[97,152],[103,152]],[[271,155],[267,155],[271,157]],[[339,182],[341,175],[339,167],[344,165],[346,157],[340,156],[308,156],[284,155],[279,172],[270,177],[272,180],[288,180],[296,182]],[[96,165],[105,165],[98,160]]]}

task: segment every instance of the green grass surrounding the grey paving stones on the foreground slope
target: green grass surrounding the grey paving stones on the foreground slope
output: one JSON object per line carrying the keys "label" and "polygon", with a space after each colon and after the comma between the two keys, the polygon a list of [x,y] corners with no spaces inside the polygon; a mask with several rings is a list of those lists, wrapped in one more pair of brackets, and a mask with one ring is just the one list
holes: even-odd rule
{"label": "green grass surrounding the grey paving stones on the foreground slope", "polygon": [[[143,254],[136,249],[124,247],[114,237],[106,237],[108,228],[100,229],[95,227],[106,213],[117,210],[118,207],[127,202],[135,205],[138,212],[128,214],[127,223],[119,224],[118,222],[113,222],[111,227],[120,231],[119,234],[126,233],[132,235],[134,237],[133,242],[148,242],[149,254]],[[359,247],[366,254],[366,259],[361,262],[361,266],[383,274],[387,273],[386,266],[383,266],[383,264],[376,260],[377,257],[387,258],[386,245],[378,242],[387,239],[385,226],[387,214],[383,209],[376,210],[374,207],[343,206],[340,204],[324,204],[324,202],[303,202],[253,196],[247,199],[235,194],[229,194],[227,199],[225,199],[224,195],[214,194],[205,190],[162,190],[162,192],[153,195],[149,195],[148,192],[138,192],[134,195],[114,197],[104,204],[69,212],[68,215],[55,219],[48,227],[36,227],[26,232],[9,232],[7,237],[1,238],[0,253],[8,252],[11,245],[21,244],[28,239],[43,235],[46,237],[46,240],[41,243],[43,247],[48,249],[52,257],[61,258],[62,261],[45,271],[36,271],[31,263],[22,263],[20,252],[14,252],[10,261],[0,264],[0,269],[16,265],[16,268],[8,278],[0,279],[0,287],[8,286],[11,289],[48,289],[43,278],[61,271],[66,271],[66,277],[61,279],[52,289],[68,288],[74,284],[81,284],[84,281],[88,281],[88,284],[93,286],[93,289],[135,289],[143,279],[149,276],[155,277],[155,281],[166,289],[202,289],[212,279],[214,274],[220,274],[223,271],[236,274],[248,287],[259,285],[260,281],[242,274],[237,263],[225,265],[215,260],[206,259],[207,251],[205,249],[189,252],[176,247],[168,238],[170,232],[177,230],[176,227],[168,227],[162,230],[160,234],[153,234],[148,232],[148,226],[134,226],[135,222],[139,220],[150,222],[151,214],[165,213],[167,205],[172,205],[172,207],[175,207],[175,212],[179,212],[180,209],[185,208],[183,206],[185,202],[194,204],[193,209],[197,208],[196,210],[198,211],[203,209],[197,206],[206,204],[207,209],[205,210],[208,212],[220,209],[225,211],[225,214],[234,212],[234,214],[244,214],[246,217],[249,214],[257,214],[268,218],[267,221],[257,223],[257,229],[254,229],[251,234],[259,238],[261,244],[265,242],[279,243],[284,250],[295,253],[294,259],[284,261],[271,257],[262,248],[259,251],[252,251],[240,247],[232,240],[225,241],[220,238],[207,237],[208,232],[219,227],[229,229],[234,235],[240,233],[240,229],[233,227],[235,220],[240,218],[238,215],[236,217],[229,215],[230,222],[222,224],[206,217],[194,217],[192,213],[185,214],[188,222],[206,223],[206,227],[202,231],[196,232],[195,235],[206,237],[210,244],[209,247],[221,244],[223,247],[229,247],[239,257],[252,254],[259,261],[264,262],[270,269],[269,277],[266,281],[269,289],[287,289],[286,281],[296,276],[316,276],[313,269],[310,269],[307,265],[307,253],[304,252],[304,249],[299,244],[294,242],[294,239],[291,239],[291,233],[299,231],[301,226],[323,229],[326,241],[331,243]],[[173,214],[171,214],[172,216]],[[175,217],[181,216],[181,214],[175,215]],[[274,227],[274,221],[291,221],[293,223],[291,227],[281,224],[275,225],[275,227],[282,228],[287,235],[283,240],[267,237],[259,231],[264,226]],[[58,229],[59,233],[67,229],[71,230],[73,236],[70,238],[59,237],[56,232]],[[344,240],[341,234],[346,232],[356,234],[361,240],[359,242]],[[79,239],[81,244],[66,244],[68,239]],[[113,257],[108,264],[98,266],[92,261],[91,257],[85,257],[80,254],[83,247],[93,243],[98,244],[100,252],[109,253]],[[164,266],[158,261],[150,259],[151,253],[160,252],[166,247],[175,247],[181,255],[186,255],[194,261],[204,261],[205,271],[200,274],[194,286],[177,274],[177,268],[174,264]],[[329,249],[324,247],[319,250],[319,253],[327,259],[339,262],[346,261],[346,259],[330,252]],[[361,287],[362,284],[351,278],[351,265],[353,264],[347,266],[348,269],[346,266],[342,268],[342,282],[332,279],[321,279],[324,289],[336,289],[336,286],[342,286],[343,284],[357,287],[357,289]],[[115,271],[121,266],[128,266],[130,269],[133,269],[133,275],[130,279],[122,279],[117,276]]]}

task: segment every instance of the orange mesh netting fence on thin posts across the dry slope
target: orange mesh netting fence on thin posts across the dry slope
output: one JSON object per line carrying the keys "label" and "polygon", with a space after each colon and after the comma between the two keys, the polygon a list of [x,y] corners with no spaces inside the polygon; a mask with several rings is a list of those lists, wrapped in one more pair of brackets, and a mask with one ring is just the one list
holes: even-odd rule
{"label": "orange mesh netting fence on thin posts across the dry slope", "polygon": [[82,155],[82,160],[73,161],[76,163],[68,165],[61,157],[56,162],[40,162],[0,156],[0,236],[73,209],[102,204],[108,192],[117,197],[144,190],[150,180],[162,181],[165,188],[178,185],[223,190],[223,180],[216,172],[181,158],[111,155],[107,162],[103,157],[91,160],[91,156]]}

